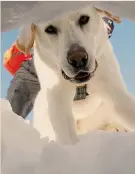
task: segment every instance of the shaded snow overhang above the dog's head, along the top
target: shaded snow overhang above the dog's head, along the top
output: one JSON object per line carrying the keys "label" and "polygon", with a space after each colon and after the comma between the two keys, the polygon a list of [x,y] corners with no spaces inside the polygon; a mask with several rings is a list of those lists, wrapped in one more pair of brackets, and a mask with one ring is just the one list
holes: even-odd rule
{"label": "shaded snow overhang above the dog's head, along the top", "polygon": [[9,31],[26,23],[51,20],[87,5],[135,21],[135,1],[2,1],[1,30]]}

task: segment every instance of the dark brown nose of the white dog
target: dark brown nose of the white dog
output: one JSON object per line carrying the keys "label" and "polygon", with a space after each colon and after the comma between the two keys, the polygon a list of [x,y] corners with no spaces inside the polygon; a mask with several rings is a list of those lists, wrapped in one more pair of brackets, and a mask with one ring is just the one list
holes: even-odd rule
{"label": "dark brown nose of the white dog", "polygon": [[67,60],[76,69],[85,68],[88,63],[88,54],[79,44],[72,44],[67,54]]}

